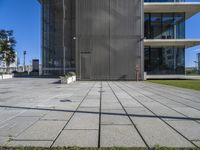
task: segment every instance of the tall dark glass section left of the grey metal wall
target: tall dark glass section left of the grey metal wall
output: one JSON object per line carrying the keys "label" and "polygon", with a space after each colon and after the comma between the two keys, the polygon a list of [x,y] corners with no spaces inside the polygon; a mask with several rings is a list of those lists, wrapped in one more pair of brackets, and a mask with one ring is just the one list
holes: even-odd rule
{"label": "tall dark glass section left of the grey metal wall", "polygon": [[[62,75],[75,68],[73,1],[42,1],[42,69],[43,75]],[[70,9],[69,9],[69,8]],[[63,19],[65,18],[65,20]],[[63,27],[64,24],[64,27]],[[65,55],[64,55],[65,54]]]}

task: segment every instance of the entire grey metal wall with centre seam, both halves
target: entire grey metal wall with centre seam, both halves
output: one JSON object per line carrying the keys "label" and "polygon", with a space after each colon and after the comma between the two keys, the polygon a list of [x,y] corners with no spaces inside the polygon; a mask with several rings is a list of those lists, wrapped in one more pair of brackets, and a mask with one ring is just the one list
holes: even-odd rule
{"label": "entire grey metal wall with centre seam, both halves", "polygon": [[[142,0],[76,0],[77,71],[91,56],[91,80],[134,80],[141,64]],[[89,66],[88,66],[89,67]],[[84,79],[83,77],[81,79]]]}

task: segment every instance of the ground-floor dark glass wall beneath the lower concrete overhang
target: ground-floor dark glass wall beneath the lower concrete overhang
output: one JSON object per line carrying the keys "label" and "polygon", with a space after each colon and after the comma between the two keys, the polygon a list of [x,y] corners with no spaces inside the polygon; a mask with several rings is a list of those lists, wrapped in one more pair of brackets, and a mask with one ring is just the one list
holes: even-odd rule
{"label": "ground-floor dark glass wall beneath the lower concrete overhang", "polygon": [[185,48],[145,47],[145,71],[150,75],[184,74]]}

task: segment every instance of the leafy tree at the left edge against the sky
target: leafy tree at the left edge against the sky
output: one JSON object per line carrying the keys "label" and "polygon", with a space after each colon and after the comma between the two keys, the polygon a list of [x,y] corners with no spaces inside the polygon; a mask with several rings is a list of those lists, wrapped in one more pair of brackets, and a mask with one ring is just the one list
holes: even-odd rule
{"label": "leafy tree at the left edge against the sky", "polygon": [[0,30],[0,61],[5,62],[7,72],[10,64],[15,62],[15,44],[12,30]]}

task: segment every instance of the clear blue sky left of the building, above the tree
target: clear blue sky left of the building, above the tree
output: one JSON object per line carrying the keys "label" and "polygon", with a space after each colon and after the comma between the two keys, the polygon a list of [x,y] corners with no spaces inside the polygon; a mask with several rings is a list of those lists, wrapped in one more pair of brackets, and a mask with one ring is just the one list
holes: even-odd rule
{"label": "clear blue sky left of the building, above the tree", "polygon": [[37,0],[0,0],[0,29],[14,30],[21,64],[24,50],[27,51],[26,64],[40,58],[40,9]]}

